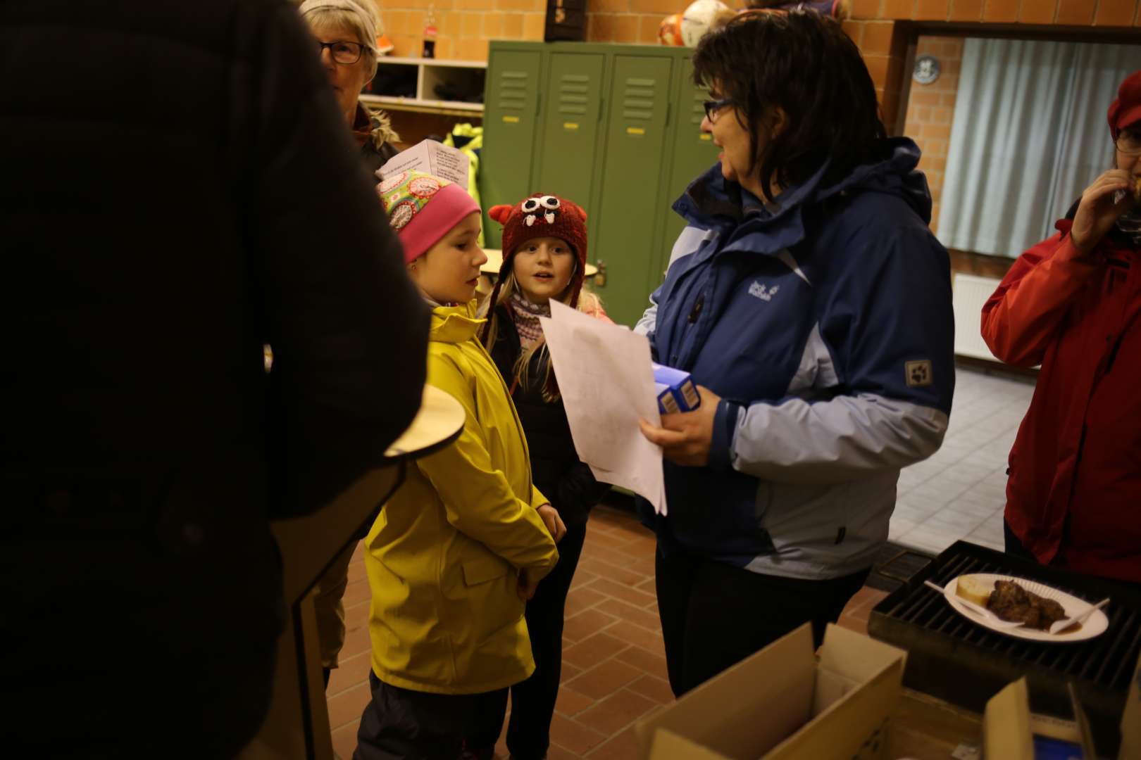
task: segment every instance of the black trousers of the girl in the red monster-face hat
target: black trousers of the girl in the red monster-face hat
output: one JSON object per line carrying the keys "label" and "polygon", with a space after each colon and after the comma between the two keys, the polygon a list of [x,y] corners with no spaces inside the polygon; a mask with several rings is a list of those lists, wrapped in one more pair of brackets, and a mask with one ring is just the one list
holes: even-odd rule
{"label": "black trousers of the girl in the red monster-face hat", "polygon": [[[567,528],[559,541],[559,563],[540,581],[535,596],[527,603],[527,631],[535,672],[511,687],[507,747],[515,760],[540,760],[551,743],[551,717],[563,677],[564,612],[585,539],[585,524]],[[493,741],[491,745],[494,744]]]}

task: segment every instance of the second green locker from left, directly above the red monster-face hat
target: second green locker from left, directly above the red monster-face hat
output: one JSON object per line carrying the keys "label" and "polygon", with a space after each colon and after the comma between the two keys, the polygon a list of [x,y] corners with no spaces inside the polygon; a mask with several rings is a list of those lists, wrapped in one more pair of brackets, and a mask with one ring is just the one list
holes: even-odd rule
{"label": "second green locker from left, directly above the red monster-face hat", "polygon": [[601,162],[599,133],[602,119],[602,75],[606,56],[600,52],[550,54],[532,190],[556,193],[586,210],[588,234],[593,232],[596,179]]}

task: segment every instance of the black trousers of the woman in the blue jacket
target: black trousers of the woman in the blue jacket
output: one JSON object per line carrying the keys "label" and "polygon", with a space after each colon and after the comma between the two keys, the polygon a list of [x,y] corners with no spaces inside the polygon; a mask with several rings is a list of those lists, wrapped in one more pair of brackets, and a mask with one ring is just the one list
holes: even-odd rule
{"label": "black trousers of the woman in the blue jacket", "polygon": [[657,551],[657,611],[670,688],[681,696],[806,622],[819,646],[868,570],[828,580],[762,575],[704,557]]}

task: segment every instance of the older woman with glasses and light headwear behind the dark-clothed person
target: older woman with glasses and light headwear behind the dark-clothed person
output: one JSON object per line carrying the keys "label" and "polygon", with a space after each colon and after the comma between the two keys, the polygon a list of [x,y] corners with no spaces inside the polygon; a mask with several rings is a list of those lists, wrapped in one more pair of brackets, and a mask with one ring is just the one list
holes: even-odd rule
{"label": "older woman with glasses and light headwear behind the dark-clothed person", "polygon": [[[375,173],[396,155],[399,137],[387,114],[371,115],[359,95],[377,74],[377,17],[370,0],[305,0],[301,18],[317,38],[321,64],[329,74],[345,123],[353,131],[361,157]],[[379,178],[377,178],[379,181]]]}

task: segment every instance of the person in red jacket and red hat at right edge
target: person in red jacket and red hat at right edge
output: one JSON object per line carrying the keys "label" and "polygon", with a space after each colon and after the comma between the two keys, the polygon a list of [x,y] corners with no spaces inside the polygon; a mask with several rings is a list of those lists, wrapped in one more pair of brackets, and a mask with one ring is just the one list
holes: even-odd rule
{"label": "person in red jacket and red hat at right edge", "polygon": [[1141,71],[1109,130],[1114,167],[1014,262],[982,337],[1042,366],[1010,452],[1008,554],[1141,583]]}

